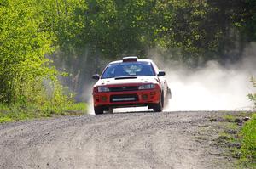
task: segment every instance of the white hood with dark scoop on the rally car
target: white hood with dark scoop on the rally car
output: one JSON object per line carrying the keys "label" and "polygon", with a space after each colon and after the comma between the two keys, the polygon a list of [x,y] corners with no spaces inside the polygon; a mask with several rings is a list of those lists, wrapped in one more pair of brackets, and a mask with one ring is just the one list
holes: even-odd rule
{"label": "white hood with dark scoop on the rally car", "polygon": [[120,85],[120,84],[140,84],[140,83],[159,83],[156,76],[137,76],[130,78],[108,78],[100,79],[96,82],[95,86],[108,86],[108,85]]}

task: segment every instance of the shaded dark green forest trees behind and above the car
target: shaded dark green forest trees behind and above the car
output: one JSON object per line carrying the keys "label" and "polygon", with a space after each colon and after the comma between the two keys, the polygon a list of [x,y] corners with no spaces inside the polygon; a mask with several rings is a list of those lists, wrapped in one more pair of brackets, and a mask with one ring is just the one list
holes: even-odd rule
{"label": "shaded dark green forest trees behind and above the car", "polygon": [[93,56],[115,59],[122,54],[146,55],[148,48],[168,52],[178,48],[181,52],[173,57],[182,61],[233,59],[228,51],[240,49],[239,31],[244,36],[251,34],[245,27],[255,32],[249,26],[254,25],[255,5],[249,0],[51,0],[43,4],[43,15],[50,15],[47,21],[67,54],[80,55],[86,48]]}

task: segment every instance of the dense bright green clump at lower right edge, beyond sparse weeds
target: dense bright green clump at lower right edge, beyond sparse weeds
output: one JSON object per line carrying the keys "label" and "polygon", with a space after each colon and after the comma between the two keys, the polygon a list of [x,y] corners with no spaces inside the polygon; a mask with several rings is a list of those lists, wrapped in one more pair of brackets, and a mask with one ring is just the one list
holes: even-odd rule
{"label": "dense bright green clump at lower right edge, beyond sparse weeds", "polygon": [[241,130],[243,157],[247,161],[256,162],[256,114],[248,121]]}

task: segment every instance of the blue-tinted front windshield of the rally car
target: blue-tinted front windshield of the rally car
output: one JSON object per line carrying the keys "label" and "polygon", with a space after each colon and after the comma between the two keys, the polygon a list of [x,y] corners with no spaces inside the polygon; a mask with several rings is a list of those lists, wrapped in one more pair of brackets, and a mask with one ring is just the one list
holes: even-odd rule
{"label": "blue-tinted front windshield of the rally car", "polygon": [[148,62],[114,63],[108,65],[102,79],[120,76],[154,76],[154,70]]}

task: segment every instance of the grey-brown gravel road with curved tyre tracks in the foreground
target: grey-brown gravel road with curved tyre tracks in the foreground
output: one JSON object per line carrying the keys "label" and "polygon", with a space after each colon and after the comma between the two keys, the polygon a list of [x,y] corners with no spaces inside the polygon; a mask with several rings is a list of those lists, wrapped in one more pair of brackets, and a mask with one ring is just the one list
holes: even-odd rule
{"label": "grey-brown gravel road with curved tyre tracks in the foreground", "polygon": [[228,168],[220,112],[64,116],[0,125],[0,168]]}

